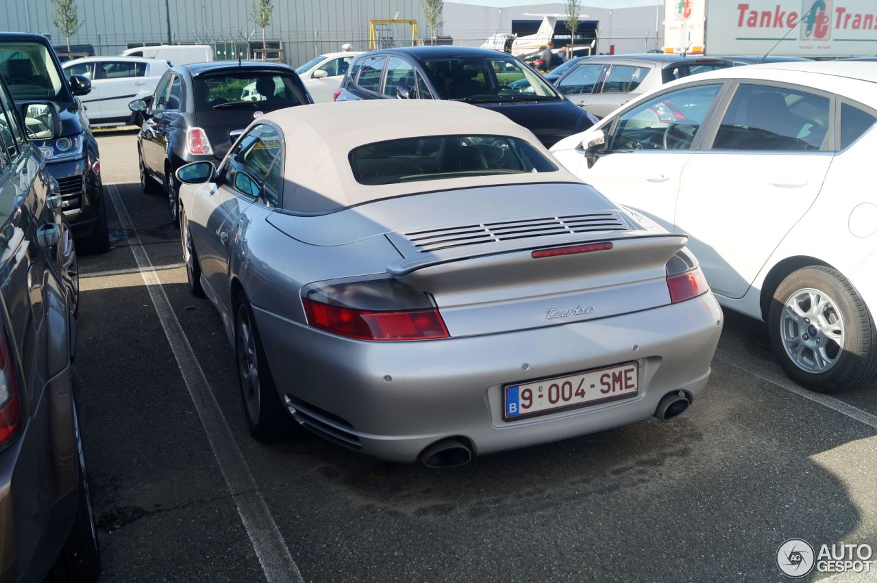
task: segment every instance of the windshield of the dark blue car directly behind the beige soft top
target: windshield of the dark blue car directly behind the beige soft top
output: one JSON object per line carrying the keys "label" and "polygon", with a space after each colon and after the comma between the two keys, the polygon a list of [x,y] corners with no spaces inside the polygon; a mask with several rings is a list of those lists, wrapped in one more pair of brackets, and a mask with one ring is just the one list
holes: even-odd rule
{"label": "windshield of the dark blue car directly behind the beige soft top", "polygon": [[474,103],[562,99],[542,75],[501,54],[424,59],[424,65],[446,99]]}

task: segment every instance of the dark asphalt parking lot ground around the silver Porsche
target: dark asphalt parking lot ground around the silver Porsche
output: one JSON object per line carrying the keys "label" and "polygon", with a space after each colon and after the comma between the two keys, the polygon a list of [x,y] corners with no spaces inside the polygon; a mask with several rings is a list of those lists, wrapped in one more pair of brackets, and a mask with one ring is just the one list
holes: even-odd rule
{"label": "dark asphalt parking lot ground around the silver Porsche", "polygon": [[441,471],[254,441],[136,134],[98,142],[114,242],[80,258],[75,391],[104,580],[765,581],[788,538],[877,544],[877,384],[803,390],[734,313],[671,422]]}

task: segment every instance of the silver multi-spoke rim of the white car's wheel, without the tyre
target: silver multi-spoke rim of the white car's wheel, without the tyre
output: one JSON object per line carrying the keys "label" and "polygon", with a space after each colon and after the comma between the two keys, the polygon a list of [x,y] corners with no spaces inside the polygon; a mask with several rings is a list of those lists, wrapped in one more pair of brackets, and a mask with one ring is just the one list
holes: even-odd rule
{"label": "silver multi-spoke rim of the white car's wheel, without the tyre", "polygon": [[804,288],[793,293],[783,306],[780,326],[786,354],[806,372],[828,372],[844,352],[844,319],[825,292]]}

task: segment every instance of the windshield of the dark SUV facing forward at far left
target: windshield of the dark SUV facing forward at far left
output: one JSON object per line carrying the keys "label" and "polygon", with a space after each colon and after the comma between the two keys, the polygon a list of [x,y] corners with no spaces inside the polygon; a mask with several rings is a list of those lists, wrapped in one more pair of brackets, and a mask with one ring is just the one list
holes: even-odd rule
{"label": "windshield of the dark SUV facing forward at far left", "polygon": [[13,99],[72,101],[49,49],[39,43],[0,44],[0,74]]}

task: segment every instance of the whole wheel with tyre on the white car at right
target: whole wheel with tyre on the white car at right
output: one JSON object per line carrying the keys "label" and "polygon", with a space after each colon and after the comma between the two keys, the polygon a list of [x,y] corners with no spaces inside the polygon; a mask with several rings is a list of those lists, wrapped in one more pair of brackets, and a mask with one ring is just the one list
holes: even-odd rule
{"label": "whole wheel with tyre on the white car at right", "polygon": [[877,330],[852,284],[837,270],[796,270],[774,292],[771,343],[796,383],[831,393],[865,383],[877,370]]}

